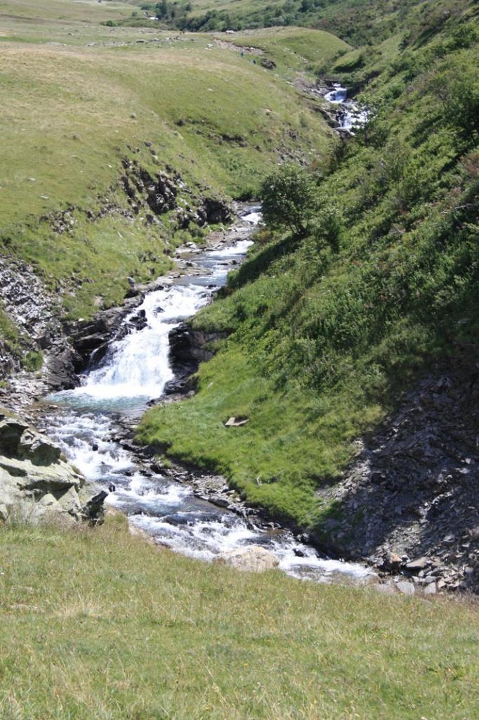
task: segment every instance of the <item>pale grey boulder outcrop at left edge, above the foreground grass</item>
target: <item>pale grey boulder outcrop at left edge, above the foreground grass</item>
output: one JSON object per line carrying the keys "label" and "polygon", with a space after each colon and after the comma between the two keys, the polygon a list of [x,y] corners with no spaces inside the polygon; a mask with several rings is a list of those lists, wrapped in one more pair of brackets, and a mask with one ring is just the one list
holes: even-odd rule
{"label": "pale grey boulder outcrop at left edge, above the foreground grass", "polygon": [[0,414],[0,520],[98,523],[107,493],[61,459],[48,438]]}

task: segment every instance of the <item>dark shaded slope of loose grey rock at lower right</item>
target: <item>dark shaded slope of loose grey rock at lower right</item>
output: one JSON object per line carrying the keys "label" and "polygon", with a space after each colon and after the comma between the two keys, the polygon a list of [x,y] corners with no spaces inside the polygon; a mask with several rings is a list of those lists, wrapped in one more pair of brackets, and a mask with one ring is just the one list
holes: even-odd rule
{"label": "dark shaded slope of loose grey rock at lower right", "polygon": [[479,382],[452,364],[403,398],[361,444],[323,531],[337,552],[419,585],[479,591]]}

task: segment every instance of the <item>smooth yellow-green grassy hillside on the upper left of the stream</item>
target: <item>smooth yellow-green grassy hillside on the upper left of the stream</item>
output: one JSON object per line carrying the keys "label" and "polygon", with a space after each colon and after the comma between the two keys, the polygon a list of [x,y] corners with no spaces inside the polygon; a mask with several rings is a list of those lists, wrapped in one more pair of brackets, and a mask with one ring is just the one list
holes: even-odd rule
{"label": "smooth yellow-green grassy hillside on the upper left of the stream", "polygon": [[[134,5],[3,1],[0,247],[34,264],[70,317],[119,302],[191,235],[132,212],[124,161],[179,188],[177,208],[250,192],[282,157],[314,158],[321,117],[278,73],[206,35],[106,27]],[[332,57],[342,43],[317,32]],[[181,179],[180,179],[181,178]],[[201,235],[198,228],[191,230]]]}

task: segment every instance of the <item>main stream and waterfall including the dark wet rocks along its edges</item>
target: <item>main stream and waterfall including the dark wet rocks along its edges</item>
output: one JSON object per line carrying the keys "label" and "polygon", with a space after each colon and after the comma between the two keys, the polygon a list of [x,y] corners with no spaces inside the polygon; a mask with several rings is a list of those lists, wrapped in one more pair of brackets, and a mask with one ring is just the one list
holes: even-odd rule
{"label": "main stream and waterfall including the dark wet rocks along its edges", "polygon": [[280,567],[320,581],[378,580],[370,567],[325,557],[304,536],[262,518],[224,478],[165,467],[134,442],[135,425],[148,404],[193,392],[188,377],[209,356],[209,338],[191,333],[184,321],[211,301],[229,269],[242,261],[258,211],[243,208],[232,228],[209,237],[204,251],[181,248],[167,277],[132,288],[137,300],[84,327],[83,335],[73,338],[77,353],[90,356],[81,383],[50,394],[37,422],[75,467],[108,493],[106,505],[126,513],[134,528],[159,545],[250,570]]}

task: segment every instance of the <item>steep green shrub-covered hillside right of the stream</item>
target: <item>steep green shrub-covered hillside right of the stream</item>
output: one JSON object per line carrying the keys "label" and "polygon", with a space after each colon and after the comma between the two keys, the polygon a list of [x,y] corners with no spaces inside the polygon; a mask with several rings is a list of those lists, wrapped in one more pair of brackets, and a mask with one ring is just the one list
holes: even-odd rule
{"label": "steep green shrub-covered hillside right of the stream", "polygon": [[[365,86],[368,126],[311,166],[309,235],[260,234],[225,297],[194,320],[229,333],[199,394],[150,411],[140,431],[316,530],[340,511],[316,491],[401,390],[434,363],[478,358],[477,8],[413,31],[359,67],[336,61],[338,80]],[[249,423],[226,428],[231,415]]]}

